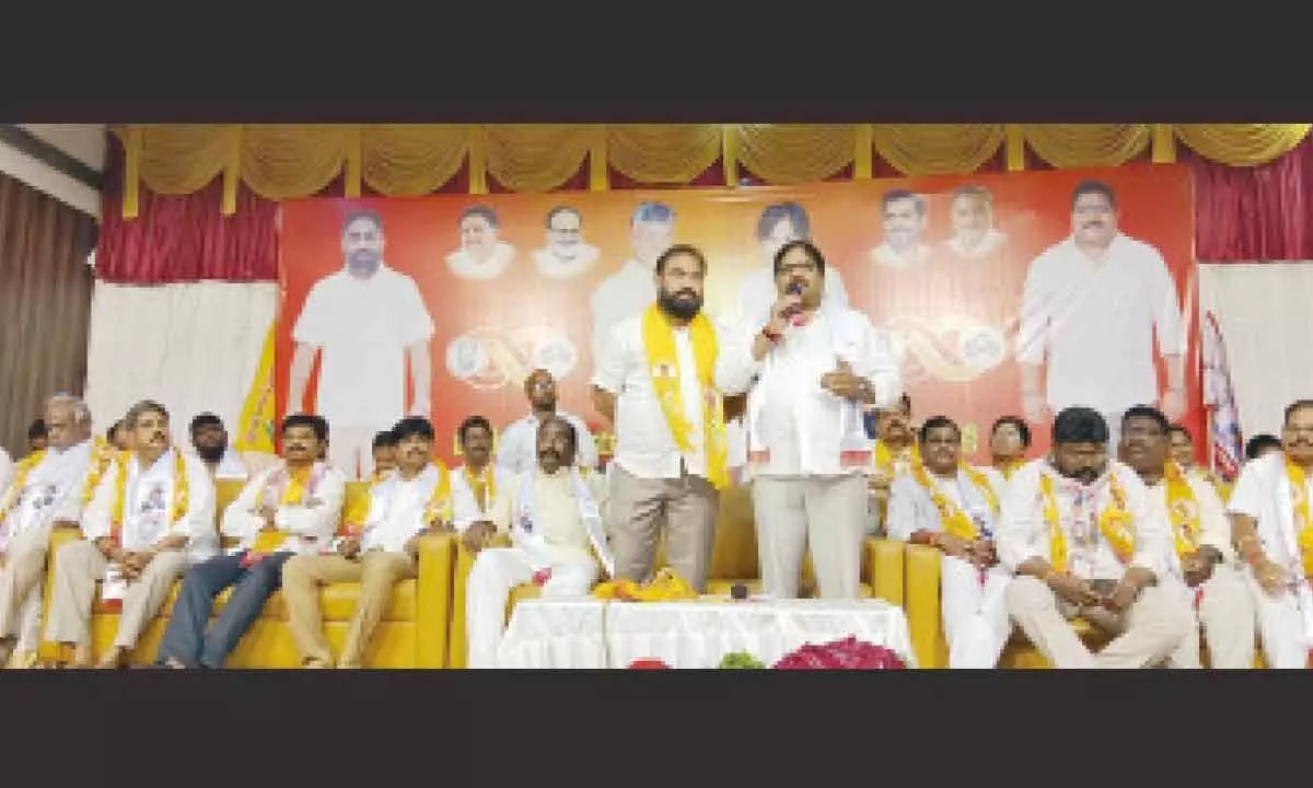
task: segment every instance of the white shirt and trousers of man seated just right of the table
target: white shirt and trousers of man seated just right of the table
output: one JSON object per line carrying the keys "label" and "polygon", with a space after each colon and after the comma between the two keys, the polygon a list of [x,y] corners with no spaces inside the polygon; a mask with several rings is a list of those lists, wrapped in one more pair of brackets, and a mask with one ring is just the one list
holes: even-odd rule
{"label": "white shirt and trousers of man seated just right of the table", "polygon": [[[1002,500],[1003,477],[993,469],[981,469],[989,478],[994,495]],[[993,538],[997,516],[989,499],[962,471],[952,479],[928,474],[949,503],[962,510],[985,538]],[[944,531],[931,494],[911,474],[901,474],[889,491],[889,537],[907,541],[919,531]],[[944,556],[940,563],[944,637],[948,641],[948,667],[991,668],[998,665],[1012,623],[1007,616],[1006,591],[1012,574],[1003,566],[990,567],[985,575],[970,562]]]}

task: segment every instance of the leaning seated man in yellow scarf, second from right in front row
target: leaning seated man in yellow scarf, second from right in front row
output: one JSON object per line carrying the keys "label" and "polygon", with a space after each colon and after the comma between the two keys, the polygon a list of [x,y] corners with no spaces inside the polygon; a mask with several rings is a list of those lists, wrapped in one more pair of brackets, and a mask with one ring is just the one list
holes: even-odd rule
{"label": "leaning seated man in yellow scarf, second from right in front row", "polygon": [[1149,506],[1161,508],[1171,527],[1167,569],[1173,583],[1195,611],[1190,629],[1169,667],[1201,667],[1199,629],[1208,644],[1209,665],[1243,670],[1254,666],[1254,604],[1230,546],[1230,523],[1221,498],[1204,478],[1192,477],[1169,457],[1167,416],[1137,405],[1121,419],[1117,457],[1145,483]]}

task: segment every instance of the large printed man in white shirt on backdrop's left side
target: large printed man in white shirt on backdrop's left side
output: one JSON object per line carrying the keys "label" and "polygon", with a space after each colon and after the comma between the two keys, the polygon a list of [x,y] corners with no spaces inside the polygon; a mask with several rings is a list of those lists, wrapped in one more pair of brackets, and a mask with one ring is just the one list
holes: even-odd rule
{"label": "large printed man in white shirt on backdrop's left side", "polygon": [[[411,411],[425,415],[432,408],[428,343],[433,320],[415,280],[383,263],[383,248],[378,213],[349,214],[341,231],[345,265],[315,282],[291,330],[297,348],[288,410],[318,412],[328,420],[328,457],[351,479],[369,478],[376,432],[404,414],[407,360]],[[319,351],[318,408],[310,408],[306,390]]]}

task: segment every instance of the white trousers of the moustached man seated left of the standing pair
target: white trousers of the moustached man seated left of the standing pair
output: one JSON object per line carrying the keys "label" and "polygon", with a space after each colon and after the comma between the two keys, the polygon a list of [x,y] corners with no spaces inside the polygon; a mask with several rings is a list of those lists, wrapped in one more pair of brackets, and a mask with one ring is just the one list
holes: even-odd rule
{"label": "white trousers of the moustached man seated left of the standing pair", "polygon": [[[479,552],[465,580],[466,667],[496,667],[496,650],[506,629],[506,604],[511,591],[533,579],[536,566],[520,548],[486,548]],[[542,584],[544,598],[584,596],[597,579],[597,563],[590,558],[555,562]]]}

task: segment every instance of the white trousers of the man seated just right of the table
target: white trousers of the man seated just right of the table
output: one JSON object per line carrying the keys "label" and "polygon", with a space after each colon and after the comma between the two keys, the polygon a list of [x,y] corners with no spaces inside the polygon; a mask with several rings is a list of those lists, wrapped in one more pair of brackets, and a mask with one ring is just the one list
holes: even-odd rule
{"label": "white trousers of the man seated just right of the table", "polygon": [[1006,596],[1012,575],[994,566],[981,583],[979,570],[953,556],[944,556],[939,571],[948,667],[989,670],[997,666],[1012,634]]}

